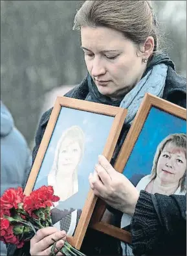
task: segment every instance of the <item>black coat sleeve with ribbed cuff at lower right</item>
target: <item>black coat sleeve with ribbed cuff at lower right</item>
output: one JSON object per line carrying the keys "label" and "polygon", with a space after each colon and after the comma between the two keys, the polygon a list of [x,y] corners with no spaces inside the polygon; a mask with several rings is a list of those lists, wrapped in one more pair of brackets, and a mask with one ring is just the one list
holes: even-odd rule
{"label": "black coat sleeve with ribbed cuff at lower right", "polygon": [[186,255],[186,196],[141,190],[131,234],[135,255]]}

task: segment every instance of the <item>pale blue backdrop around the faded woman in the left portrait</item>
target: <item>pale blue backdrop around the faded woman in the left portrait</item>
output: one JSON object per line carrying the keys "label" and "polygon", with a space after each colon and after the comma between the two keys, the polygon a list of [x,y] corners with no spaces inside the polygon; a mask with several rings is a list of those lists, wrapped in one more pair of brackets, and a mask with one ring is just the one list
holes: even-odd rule
{"label": "pale blue backdrop around the faded woman in the left portrait", "polygon": [[113,121],[114,117],[112,116],[62,107],[41,164],[34,190],[42,185],[47,185],[47,175],[52,168],[56,145],[63,131],[72,125],[78,125],[85,134],[85,151],[82,162],[78,167],[79,192],[76,193],[76,196],[61,202],[57,208],[61,210],[82,209],[90,188],[89,173],[94,171],[94,165],[98,162],[98,155],[102,154],[104,150]]}

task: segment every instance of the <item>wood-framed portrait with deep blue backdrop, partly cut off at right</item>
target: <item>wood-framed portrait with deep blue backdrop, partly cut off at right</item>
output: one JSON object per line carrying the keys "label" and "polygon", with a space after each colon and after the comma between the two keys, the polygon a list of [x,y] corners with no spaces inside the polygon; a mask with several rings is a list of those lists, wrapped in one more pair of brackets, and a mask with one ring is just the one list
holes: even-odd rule
{"label": "wood-framed portrait with deep blue backdrop, partly cut off at right", "polygon": [[[186,109],[146,94],[114,168],[123,173],[139,191],[154,194],[156,185],[153,183],[158,177],[162,183],[178,185],[171,194],[186,194],[185,152]],[[104,222],[102,216],[106,205],[102,200],[97,203],[90,227],[130,244],[131,217],[116,211],[114,215],[117,220],[112,224]]]}

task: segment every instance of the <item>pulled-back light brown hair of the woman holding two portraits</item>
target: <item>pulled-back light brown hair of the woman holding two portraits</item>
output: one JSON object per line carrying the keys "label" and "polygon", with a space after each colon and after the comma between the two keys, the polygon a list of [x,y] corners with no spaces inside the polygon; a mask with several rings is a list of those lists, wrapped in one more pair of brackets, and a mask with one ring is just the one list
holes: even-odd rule
{"label": "pulled-back light brown hair of the woman holding two portraits", "polygon": [[82,26],[109,27],[120,31],[139,46],[153,36],[159,47],[159,30],[151,1],[85,1],[74,18],[74,30]]}

